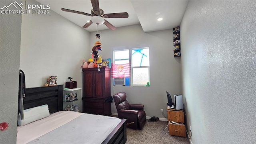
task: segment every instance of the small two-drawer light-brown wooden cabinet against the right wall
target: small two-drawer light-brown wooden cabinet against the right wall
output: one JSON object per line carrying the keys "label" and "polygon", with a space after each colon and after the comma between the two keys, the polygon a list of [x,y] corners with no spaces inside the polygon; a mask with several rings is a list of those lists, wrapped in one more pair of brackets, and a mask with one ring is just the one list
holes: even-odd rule
{"label": "small two-drawer light-brown wooden cabinet against the right wall", "polygon": [[[184,112],[183,110],[176,110],[167,108],[168,130],[172,136],[186,137],[186,126],[184,125]],[[179,124],[172,124],[171,121]]]}

